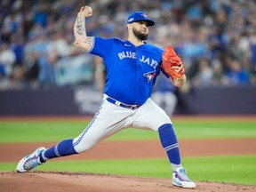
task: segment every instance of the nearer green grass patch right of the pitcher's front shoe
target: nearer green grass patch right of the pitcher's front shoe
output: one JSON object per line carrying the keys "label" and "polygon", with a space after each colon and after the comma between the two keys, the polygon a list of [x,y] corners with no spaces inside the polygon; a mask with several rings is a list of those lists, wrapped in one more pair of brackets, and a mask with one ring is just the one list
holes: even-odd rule
{"label": "nearer green grass patch right of the pitcher's front shoe", "polygon": [[189,157],[189,172],[196,180],[256,185],[255,156]]}

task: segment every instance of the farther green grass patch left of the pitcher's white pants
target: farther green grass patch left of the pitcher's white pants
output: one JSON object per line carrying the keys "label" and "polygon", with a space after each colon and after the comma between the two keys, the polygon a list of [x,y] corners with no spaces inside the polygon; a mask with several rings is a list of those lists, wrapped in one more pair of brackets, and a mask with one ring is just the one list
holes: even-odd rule
{"label": "farther green grass patch left of the pitcher's white pants", "polygon": [[86,124],[72,121],[1,122],[0,142],[47,142],[74,138],[83,132]]}

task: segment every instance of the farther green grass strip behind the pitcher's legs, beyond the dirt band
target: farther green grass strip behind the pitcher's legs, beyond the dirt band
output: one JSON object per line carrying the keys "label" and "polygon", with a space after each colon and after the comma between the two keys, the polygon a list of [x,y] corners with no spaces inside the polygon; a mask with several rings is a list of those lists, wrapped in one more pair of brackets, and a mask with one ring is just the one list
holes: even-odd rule
{"label": "farther green grass strip behind the pitcher's legs, beyond the dirt band", "polygon": [[[179,119],[172,121],[179,139],[256,138],[255,121]],[[0,143],[47,142],[74,138],[83,132],[87,121],[0,122]],[[126,129],[108,140],[158,140],[156,132]]]}

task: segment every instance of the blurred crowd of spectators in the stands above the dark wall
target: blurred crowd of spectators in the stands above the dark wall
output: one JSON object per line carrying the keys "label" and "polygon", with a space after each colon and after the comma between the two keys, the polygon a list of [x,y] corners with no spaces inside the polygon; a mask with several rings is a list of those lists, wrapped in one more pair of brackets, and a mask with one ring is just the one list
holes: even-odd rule
{"label": "blurred crowd of spectators in the stands above the dark wall", "polygon": [[[0,90],[58,86],[58,60],[84,54],[73,44],[76,13],[84,4],[93,9],[88,36],[126,39],[127,16],[147,12],[156,21],[148,42],[172,44],[192,86],[256,85],[254,0],[1,0]],[[95,57],[92,65],[101,89],[101,60]]]}

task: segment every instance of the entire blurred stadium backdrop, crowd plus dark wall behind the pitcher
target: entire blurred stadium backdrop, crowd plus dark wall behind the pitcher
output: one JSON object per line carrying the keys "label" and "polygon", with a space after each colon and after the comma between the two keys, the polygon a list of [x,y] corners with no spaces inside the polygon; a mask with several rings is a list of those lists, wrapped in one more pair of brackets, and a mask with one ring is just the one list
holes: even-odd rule
{"label": "entire blurred stadium backdrop, crowd plus dark wall behind the pitcher", "polygon": [[[188,83],[175,92],[179,101],[174,113],[256,113],[254,1],[3,0],[1,116],[97,110],[104,85],[102,60],[73,45],[76,12],[85,3],[94,12],[86,20],[88,36],[125,39],[125,20],[133,11],[146,11],[156,20],[148,41],[172,44],[187,70]],[[18,105],[20,109],[13,108]]]}

